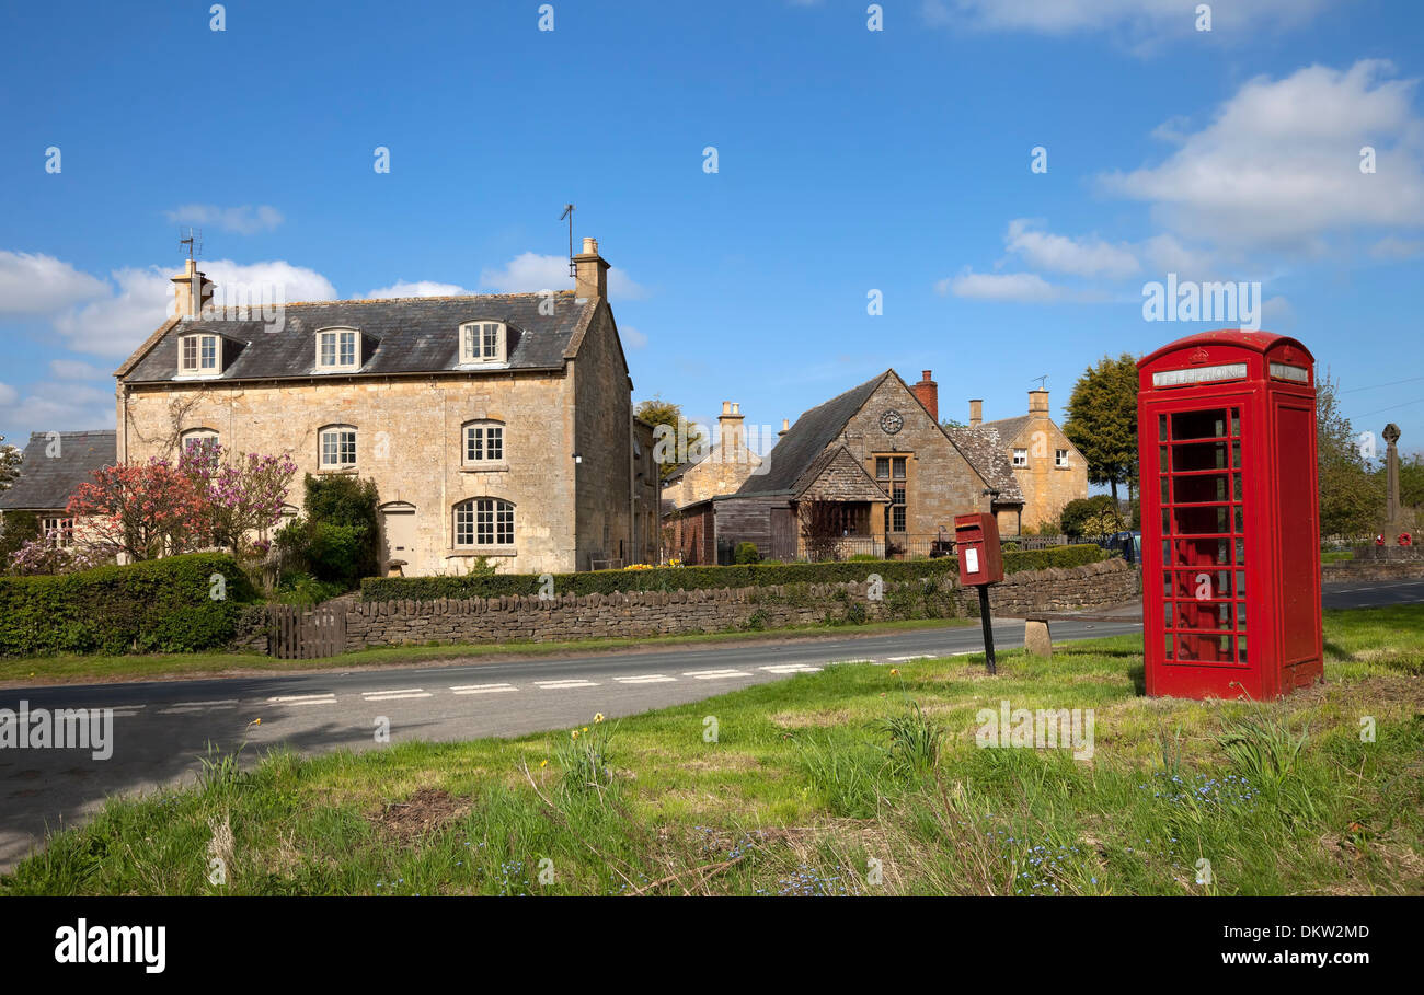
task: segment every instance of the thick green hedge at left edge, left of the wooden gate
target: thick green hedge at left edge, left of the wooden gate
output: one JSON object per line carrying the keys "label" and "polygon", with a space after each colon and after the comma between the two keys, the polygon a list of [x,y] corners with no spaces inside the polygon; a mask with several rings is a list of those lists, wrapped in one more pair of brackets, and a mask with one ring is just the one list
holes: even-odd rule
{"label": "thick green hedge at left edge, left of the wooden gate", "polygon": [[[214,599],[212,577],[226,591]],[[0,655],[215,649],[258,599],[228,554],[194,552],[54,577],[0,577]]]}

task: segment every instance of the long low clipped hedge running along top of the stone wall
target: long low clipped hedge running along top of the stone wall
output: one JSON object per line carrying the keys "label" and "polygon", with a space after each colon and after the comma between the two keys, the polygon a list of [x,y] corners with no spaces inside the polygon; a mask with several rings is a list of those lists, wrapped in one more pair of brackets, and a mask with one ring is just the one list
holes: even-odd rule
{"label": "long low clipped hedge running along top of the stone wall", "polygon": [[[1065,545],[1034,552],[1005,552],[1004,571],[1081,567],[1104,559],[1096,545]],[[953,574],[953,557],[940,559],[886,559],[836,564],[745,564],[739,567],[656,567],[654,569],[601,569],[582,574],[554,574],[554,594],[585,595],[614,591],[684,591],[709,588],[756,588],[775,584],[864,582],[879,574],[887,584],[918,581]],[[488,577],[367,577],[360,584],[362,601],[433,601],[436,598],[494,598],[537,595],[538,574],[494,574]]]}

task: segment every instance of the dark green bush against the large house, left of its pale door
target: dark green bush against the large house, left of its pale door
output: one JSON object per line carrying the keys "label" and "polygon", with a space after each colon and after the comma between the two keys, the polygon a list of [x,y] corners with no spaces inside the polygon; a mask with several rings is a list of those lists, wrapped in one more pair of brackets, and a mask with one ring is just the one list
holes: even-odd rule
{"label": "dark green bush against the large house, left of its pale door", "polygon": [[346,474],[306,474],[306,517],[278,534],[278,544],[318,581],[353,591],[380,565],[376,481]]}

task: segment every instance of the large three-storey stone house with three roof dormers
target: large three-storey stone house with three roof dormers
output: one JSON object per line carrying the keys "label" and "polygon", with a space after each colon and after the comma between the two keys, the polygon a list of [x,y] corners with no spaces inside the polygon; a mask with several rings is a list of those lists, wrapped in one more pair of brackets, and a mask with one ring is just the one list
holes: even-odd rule
{"label": "large three-storey stone house with three roof dormers", "polygon": [[175,457],[215,438],[290,453],[300,474],[375,480],[382,568],[460,574],[648,562],[652,427],[584,239],[575,289],[290,303],[278,326],[205,307],[192,260],[175,312],[117,370],[117,456]]}

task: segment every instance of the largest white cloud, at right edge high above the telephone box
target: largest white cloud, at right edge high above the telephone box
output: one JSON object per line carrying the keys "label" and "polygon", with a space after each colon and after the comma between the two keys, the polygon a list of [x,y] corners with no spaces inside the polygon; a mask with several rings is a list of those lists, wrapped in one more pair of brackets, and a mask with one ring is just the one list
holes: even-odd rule
{"label": "largest white cloud, at right edge high above the telephone box", "polygon": [[[1390,64],[1310,65],[1246,83],[1203,130],[1156,167],[1099,177],[1104,191],[1145,201],[1155,219],[1219,245],[1321,252],[1360,226],[1424,225],[1424,120],[1415,80]],[[1360,172],[1371,145],[1378,171]]]}

